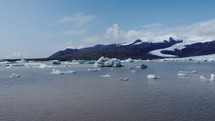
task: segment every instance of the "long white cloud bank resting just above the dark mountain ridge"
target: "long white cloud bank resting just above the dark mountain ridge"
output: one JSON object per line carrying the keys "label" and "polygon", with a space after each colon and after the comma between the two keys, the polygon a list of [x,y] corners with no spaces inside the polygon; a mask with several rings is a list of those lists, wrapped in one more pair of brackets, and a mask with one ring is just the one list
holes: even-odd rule
{"label": "long white cloud bank resting just above the dark mountain ridge", "polygon": [[[136,39],[142,39],[149,42],[159,42],[167,40],[169,37],[183,39],[187,43],[215,40],[215,19],[174,28],[164,28],[160,24],[147,26],[147,28],[150,27],[151,29],[142,28],[122,30],[117,24],[113,24],[106,29],[103,36],[99,35],[89,37],[88,39],[85,39],[85,42],[88,41],[88,43],[93,42],[104,44],[116,43],[116,41],[131,42]],[[157,29],[154,29],[154,27],[157,27]]]}

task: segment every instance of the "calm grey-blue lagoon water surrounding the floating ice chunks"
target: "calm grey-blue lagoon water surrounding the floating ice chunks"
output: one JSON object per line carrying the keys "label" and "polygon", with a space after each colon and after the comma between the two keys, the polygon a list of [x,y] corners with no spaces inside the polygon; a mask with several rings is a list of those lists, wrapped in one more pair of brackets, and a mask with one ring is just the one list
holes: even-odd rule
{"label": "calm grey-blue lagoon water surrounding the floating ice chunks", "polygon": [[[146,62],[131,72],[92,65],[58,67],[77,74],[50,75],[52,68],[0,67],[1,121],[215,121],[215,84],[200,80],[215,63]],[[197,74],[179,77],[178,71]],[[11,73],[21,78],[9,78]],[[100,75],[109,74],[110,78]],[[148,74],[160,79],[148,80]],[[128,77],[128,81],[120,78]]]}

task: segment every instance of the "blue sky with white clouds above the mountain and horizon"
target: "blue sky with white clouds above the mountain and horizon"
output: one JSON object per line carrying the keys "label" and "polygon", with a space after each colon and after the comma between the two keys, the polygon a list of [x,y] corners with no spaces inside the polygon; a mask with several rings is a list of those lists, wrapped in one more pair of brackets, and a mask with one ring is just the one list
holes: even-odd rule
{"label": "blue sky with white clouds above the mountain and horizon", "polygon": [[215,39],[214,0],[0,0],[0,58],[170,36]]}

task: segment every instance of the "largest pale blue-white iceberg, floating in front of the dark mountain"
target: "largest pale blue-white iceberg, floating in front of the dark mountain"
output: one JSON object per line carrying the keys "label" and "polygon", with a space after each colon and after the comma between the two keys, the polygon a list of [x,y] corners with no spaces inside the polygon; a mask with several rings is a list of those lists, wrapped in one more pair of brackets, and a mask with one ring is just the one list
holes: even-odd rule
{"label": "largest pale blue-white iceberg, floating in front of the dark mountain", "polygon": [[119,59],[102,56],[95,62],[95,67],[122,67],[122,64]]}

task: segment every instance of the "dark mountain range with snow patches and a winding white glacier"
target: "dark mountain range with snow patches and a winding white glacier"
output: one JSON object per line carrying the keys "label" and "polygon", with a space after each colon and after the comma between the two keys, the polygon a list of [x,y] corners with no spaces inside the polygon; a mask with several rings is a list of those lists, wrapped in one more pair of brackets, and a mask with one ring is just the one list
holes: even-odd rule
{"label": "dark mountain range with snow patches and a winding white glacier", "polygon": [[131,43],[96,45],[82,49],[66,49],[51,55],[51,59],[98,59],[110,58],[157,59],[166,57],[189,57],[215,53],[215,41],[185,43],[170,37],[162,42],[144,42],[140,39]]}

